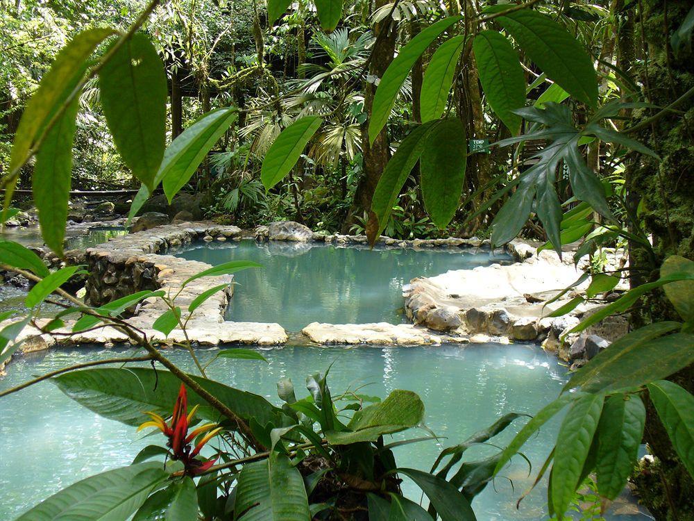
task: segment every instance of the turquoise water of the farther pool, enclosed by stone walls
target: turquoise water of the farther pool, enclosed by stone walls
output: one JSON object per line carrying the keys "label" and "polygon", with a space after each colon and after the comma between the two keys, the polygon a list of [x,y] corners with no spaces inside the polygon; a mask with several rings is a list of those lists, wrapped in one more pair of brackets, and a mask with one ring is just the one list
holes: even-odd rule
{"label": "turquoise water of the farther pool, enclosed by stone walls", "polygon": [[255,261],[261,270],[235,274],[238,285],[228,320],[279,322],[301,331],[310,322],[360,324],[405,321],[403,284],[491,263],[510,263],[507,254],[463,249],[369,249],[321,243],[253,240],[193,245],[178,256],[218,265]]}

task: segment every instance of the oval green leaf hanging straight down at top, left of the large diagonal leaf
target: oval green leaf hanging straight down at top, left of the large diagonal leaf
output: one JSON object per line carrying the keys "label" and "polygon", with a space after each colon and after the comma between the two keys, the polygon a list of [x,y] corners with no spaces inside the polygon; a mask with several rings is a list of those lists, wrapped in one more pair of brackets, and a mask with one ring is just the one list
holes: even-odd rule
{"label": "oval green leaf hanging straight down at top, left of the large diagonal leaf", "polygon": [[521,117],[513,111],[525,105],[525,74],[518,53],[497,31],[482,31],[473,41],[480,83],[492,110],[511,131],[521,131]]}

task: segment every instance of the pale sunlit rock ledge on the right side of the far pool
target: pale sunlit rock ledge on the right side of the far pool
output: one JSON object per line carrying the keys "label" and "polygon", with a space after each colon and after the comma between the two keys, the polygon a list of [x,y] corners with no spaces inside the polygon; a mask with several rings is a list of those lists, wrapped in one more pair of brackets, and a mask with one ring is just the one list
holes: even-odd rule
{"label": "pale sunlit rock ledge on the right side of the far pool", "polygon": [[[573,255],[563,259],[554,251],[537,252],[536,245],[522,240],[509,243],[507,251],[519,261],[511,265],[493,264],[473,270],[452,270],[437,276],[413,279],[403,287],[407,316],[421,326],[451,335],[491,335],[510,340],[541,341],[564,361],[573,360],[570,349],[577,336],[560,338],[594,313],[600,304],[584,303],[568,315],[548,315],[583,295],[588,281],[575,286],[561,299],[543,303],[572,285],[583,274],[586,261],[573,264]],[[613,264],[623,258],[613,252]],[[625,288],[618,288],[625,289]],[[613,340],[627,332],[623,317],[609,317],[591,327],[587,334]]]}

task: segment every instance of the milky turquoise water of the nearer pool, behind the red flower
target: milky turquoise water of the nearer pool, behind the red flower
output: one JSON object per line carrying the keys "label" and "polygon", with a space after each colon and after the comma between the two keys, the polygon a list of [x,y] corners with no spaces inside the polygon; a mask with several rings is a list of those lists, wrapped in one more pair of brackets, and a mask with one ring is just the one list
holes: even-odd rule
{"label": "milky turquoise water of the nearer pool, behind the red flower", "polygon": [[[127,352],[122,352],[124,355]],[[15,386],[33,374],[43,374],[72,363],[112,357],[114,349],[55,350],[25,356],[8,367],[0,389]],[[532,345],[468,345],[466,347],[285,347],[263,352],[269,363],[218,359],[210,365],[210,377],[232,386],[264,395],[274,403],[276,381],[290,377],[298,396],[306,391],[307,374],[330,371],[333,394],[366,386],[362,392],[385,397],[393,389],[418,392],[426,406],[426,424],[444,445],[454,445],[491,424],[499,415],[516,411],[534,413],[557,395],[565,381],[565,369],[552,356]],[[183,351],[168,352],[173,361],[192,371]],[[203,363],[214,349],[199,352]],[[172,397],[172,403],[175,397]],[[145,441],[135,429],[105,420],[77,406],[54,387],[43,382],[0,400],[0,519],[10,520],[62,487],[79,479],[127,465]],[[503,445],[518,429],[508,429],[495,443]],[[548,424],[525,447],[537,470],[549,451],[557,424]],[[404,438],[403,433],[396,435]],[[407,436],[426,436],[411,431]],[[160,440],[161,441],[161,440]],[[441,447],[428,441],[399,447],[398,463],[428,470]],[[471,458],[483,456],[490,447],[475,447]],[[473,502],[480,521],[541,520],[544,490],[536,490],[516,510],[518,496],[530,483],[527,465],[520,458],[505,475],[488,486]],[[496,489],[496,490],[495,490]],[[418,499],[418,489],[406,484],[407,493]],[[634,506],[620,504],[634,511]],[[612,521],[648,519],[636,515],[611,515]]]}

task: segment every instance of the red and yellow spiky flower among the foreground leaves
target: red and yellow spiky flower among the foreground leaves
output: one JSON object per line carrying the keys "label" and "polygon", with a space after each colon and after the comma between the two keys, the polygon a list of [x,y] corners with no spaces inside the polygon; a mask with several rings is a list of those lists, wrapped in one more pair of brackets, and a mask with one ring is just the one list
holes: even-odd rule
{"label": "red and yellow spiky flower among the foreground leaves", "polygon": [[[185,473],[189,476],[202,474],[217,461],[217,458],[201,461],[196,459],[195,456],[200,453],[205,443],[208,443],[208,441],[214,438],[214,436],[217,436],[217,433],[221,431],[221,427],[217,427],[213,423],[208,423],[188,433],[188,426],[197,410],[198,406],[194,406],[190,413],[188,413],[188,397],[185,386],[182,383],[180,391],[178,392],[176,404],[174,405],[174,414],[171,415],[171,424],[167,424],[166,420],[157,413],[148,412],[146,414],[151,417],[151,420],[149,422],[144,422],[137,428],[137,431],[141,431],[146,427],[156,427],[162,431],[164,436],[169,438],[167,445],[171,448],[171,459],[183,462]],[[207,431],[209,432],[203,436],[198,445],[195,447],[190,445],[195,438]]]}

